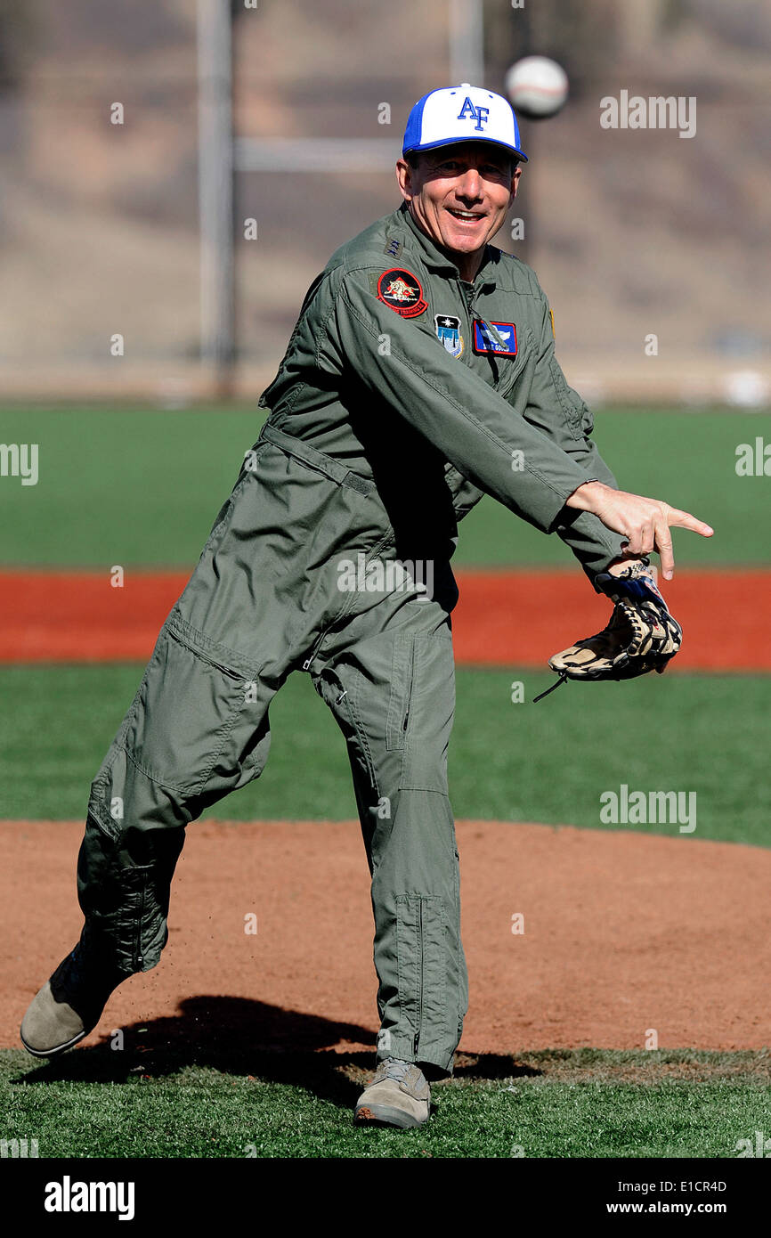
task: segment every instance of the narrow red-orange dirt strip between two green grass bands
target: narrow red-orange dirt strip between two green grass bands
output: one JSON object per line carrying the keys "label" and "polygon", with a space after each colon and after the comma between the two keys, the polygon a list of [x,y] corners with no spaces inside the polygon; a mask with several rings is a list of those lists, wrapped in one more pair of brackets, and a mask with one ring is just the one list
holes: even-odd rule
{"label": "narrow red-orange dirt strip between two green grass bands", "polygon": [[[543,666],[606,623],[582,572],[458,572],[459,664]],[[0,572],[0,662],[146,661],[187,583],[179,572]],[[771,671],[771,571],[678,571],[666,594],[684,628],[672,671]]]}

